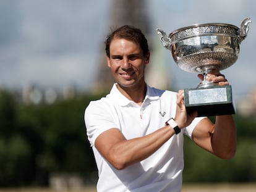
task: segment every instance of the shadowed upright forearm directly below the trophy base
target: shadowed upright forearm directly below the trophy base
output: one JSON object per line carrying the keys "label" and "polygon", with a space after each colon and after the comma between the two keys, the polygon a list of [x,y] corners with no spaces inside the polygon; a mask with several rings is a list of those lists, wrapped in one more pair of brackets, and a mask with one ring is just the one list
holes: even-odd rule
{"label": "shadowed upright forearm directly below the trophy base", "polygon": [[213,153],[229,159],[236,152],[236,125],[232,115],[216,116],[215,128],[211,136]]}

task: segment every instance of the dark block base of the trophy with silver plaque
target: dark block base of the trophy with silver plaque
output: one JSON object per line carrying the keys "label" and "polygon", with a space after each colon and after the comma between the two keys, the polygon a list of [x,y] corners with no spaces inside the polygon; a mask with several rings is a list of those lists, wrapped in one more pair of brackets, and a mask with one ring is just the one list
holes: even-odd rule
{"label": "dark block base of the trophy with silver plaque", "polygon": [[184,90],[187,113],[198,112],[197,117],[235,114],[230,85]]}

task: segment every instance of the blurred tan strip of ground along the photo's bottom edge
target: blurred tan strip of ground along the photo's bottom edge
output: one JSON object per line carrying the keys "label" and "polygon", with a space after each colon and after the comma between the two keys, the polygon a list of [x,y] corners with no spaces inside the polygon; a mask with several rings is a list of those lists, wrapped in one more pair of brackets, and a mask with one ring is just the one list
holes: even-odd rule
{"label": "blurred tan strip of ground along the photo's bottom edge", "polygon": [[[96,192],[95,186],[87,186],[73,190],[53,190],[49,188],[8,188],[0,189],[0,192]],[[255,192],[256,183],[245,184],[196,184],[184,185],[182,192]],[[155,192],[155,191],[148,191]]]}

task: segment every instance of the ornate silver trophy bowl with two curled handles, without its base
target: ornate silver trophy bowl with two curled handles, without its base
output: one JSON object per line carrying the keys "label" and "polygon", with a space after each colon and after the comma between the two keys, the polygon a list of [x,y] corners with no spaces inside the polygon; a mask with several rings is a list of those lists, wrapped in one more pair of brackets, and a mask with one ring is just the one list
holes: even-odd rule
{"label": "ornate silver trophy bowl with two curled handles, without its base", "polygon": [[213,68],[223,70],[236,62],[250,22],[250,18],[245,18],[241,28],[228,23],[199,23],[174,30],[169,36],[156,30],[179,68],[202,73]]}

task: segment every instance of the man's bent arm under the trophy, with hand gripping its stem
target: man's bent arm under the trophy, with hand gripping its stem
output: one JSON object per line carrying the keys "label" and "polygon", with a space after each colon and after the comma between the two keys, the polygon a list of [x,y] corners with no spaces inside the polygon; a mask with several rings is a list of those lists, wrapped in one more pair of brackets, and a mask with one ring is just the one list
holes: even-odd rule
{"label": "man's bent arm under the trophy, with hand gripping its stem", "polygon": [[[228,80],[217,70],[208,80],[218,85],[229,85]],[[202,79],[202,76],[198,75]],[[236,125],[233,115],[216,116],[215,124],[207,118],[201,120],[192,134],[192,139],[202,148],[216,156],[229,159],[236,153]]]}

